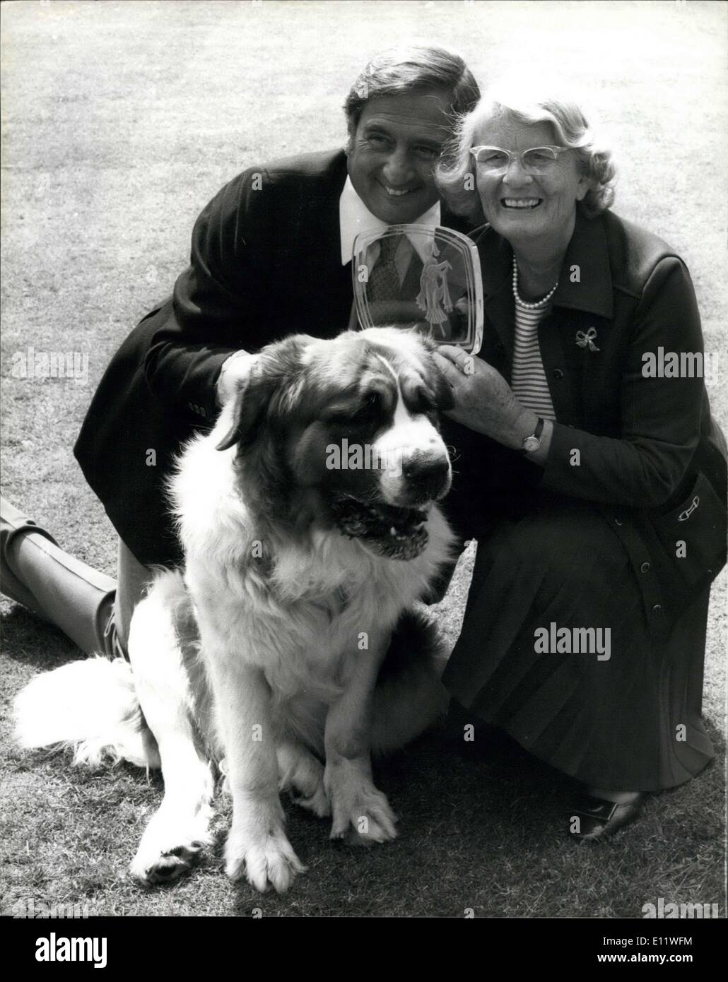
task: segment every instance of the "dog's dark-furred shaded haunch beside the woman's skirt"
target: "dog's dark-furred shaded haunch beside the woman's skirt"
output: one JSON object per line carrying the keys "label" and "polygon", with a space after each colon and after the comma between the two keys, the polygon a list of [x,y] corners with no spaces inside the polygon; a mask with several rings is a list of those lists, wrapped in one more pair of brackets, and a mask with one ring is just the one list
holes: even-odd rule
{"label": "dog's dark-furred shaded haunch beside the woman's skirt", "polygon": [[371,749],[390,753],[420,736],[445,712],[440,682],[447,653],[434,619],[407,611],[395,627],[374,690]]}

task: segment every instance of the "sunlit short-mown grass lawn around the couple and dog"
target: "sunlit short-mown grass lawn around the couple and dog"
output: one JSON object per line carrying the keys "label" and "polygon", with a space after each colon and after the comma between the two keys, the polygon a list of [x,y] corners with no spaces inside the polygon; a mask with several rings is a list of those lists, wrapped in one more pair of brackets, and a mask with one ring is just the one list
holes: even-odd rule
{"label": "sunlit short-mown grass lawn around the couple and dog", "polygon": [[[341,103],[367,55],[413,36],[458,47],[481,84],[556,68],[588,95],[621,165],[615,210],[685,257],[706,349],[724,353],[726,15],[723,4],[668,2],[3,4],[5,494],[114,574],[113,529],[72,456],[104,367],[171,291],[215,191],[252,163],[341,145]],[[87,383],[11,377],[28,346],[88,355]],[[723,359],[709,386],[724,425],[725,372]],[[439,608],[451,642],[472,561]],[[640,917],[662,897],[719,902],[724,914],[724,600],[723,576],[705,680],[719,758],[652,797],[625,835],[572,844],[569,781],[513,747],[464,760],[434,734],[378,768],[401,816],[394,845],[332,846],[327,823],[288,807],[309,872],[284,898],[225,879],[225,801],[218,846],[195,875],[153,892],[129,879],[161,781],[13,747],[12,696],[77,652],[3,600],[2,908],[32,897],[105,914]]]}

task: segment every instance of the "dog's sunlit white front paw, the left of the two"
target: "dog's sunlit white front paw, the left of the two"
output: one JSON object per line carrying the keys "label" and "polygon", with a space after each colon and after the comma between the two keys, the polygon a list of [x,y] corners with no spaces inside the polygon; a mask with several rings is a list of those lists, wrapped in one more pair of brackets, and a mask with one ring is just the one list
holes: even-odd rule
{"label": "dog's sunlit white front paw, the left of the two", "polygon": [[285,894],[306,866],[293,850],[282,829],[269,829],[257,838],[231,830],[225,846],[225,872],[231,880],[248,880],[255,890],[264,894],[272,886]]}

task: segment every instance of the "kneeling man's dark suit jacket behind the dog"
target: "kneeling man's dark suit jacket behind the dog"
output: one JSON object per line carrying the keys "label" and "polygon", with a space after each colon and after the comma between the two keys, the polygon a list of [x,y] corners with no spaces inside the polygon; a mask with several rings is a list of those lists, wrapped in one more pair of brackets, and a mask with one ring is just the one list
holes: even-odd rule
{"label": "kneeling man's dark suit jacket behind the dog", "polygon": [[[333,338],[348,325],[346,177],[339,150],[252,167],[226,185],[196,221],[173,297],[144,317],[101,379],[74,452],[141,563],[181,559],[164,480],[182,442],[214,422],[223,361],[289,334]],[[441,221],[466,229],[444,208]]]}

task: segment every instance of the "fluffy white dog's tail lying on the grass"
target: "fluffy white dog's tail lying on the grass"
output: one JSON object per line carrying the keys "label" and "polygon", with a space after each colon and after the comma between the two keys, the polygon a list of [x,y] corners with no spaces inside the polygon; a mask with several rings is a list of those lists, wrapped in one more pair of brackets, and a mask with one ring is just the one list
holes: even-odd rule
{"label": "fluffy white dog's tail lying on the grass", "polygon": [[21,746],[72,747],[75,764],[161,766],[123,658],[88,658],[37,676],[16,697],[15,723]]}

